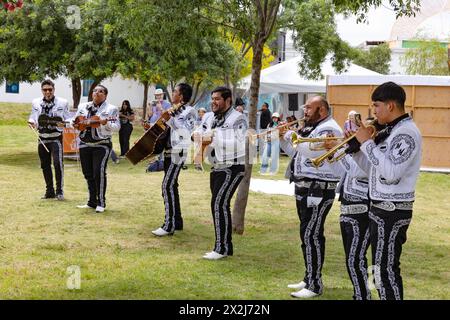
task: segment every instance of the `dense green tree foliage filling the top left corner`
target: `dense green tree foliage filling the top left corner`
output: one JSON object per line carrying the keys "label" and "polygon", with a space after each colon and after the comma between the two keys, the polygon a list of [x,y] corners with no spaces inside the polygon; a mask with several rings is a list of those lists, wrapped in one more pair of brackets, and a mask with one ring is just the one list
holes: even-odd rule
{"label": "dense green tree foliage filling the top left corner", "polygon": [[34,1],[0,11],[0,81],[33,82],[64,72],[64,56],[75,48],[64,6],[62,0]]}

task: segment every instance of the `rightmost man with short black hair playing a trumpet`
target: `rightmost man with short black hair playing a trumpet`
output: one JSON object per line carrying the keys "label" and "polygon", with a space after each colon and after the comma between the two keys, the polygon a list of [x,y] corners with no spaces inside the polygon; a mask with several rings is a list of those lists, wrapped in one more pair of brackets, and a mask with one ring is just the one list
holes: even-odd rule
{"label": "rightmost man with short black hair playing a trumpet", "polygon": [[356,132],[360,151],[353,156],[369,177],[372,264],[382,300],[403,299],[400,255],[412,218],[422,155],[422,137],[405,112],[405,100],[404,89],[396,83],[375,89],[374,115],[386,127],[372,139],[371,130],[361,126]]}

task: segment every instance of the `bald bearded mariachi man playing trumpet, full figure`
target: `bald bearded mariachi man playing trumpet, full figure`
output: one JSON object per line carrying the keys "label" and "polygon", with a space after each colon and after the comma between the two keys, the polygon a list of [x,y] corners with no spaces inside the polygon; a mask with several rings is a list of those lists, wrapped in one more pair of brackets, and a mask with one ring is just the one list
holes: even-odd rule
{"label": "bald bearded mariachi man playing trumpet, full figure", "polygon": [[[321,96],[310,98],[305,105],[305,127],[299,131],[303,138],[320,136],[342,136],[342,130],[330,115],[328,102]],[[292,160],[287,176],[295,182],[297,214],[300,219],[300,240],[305,262],[305,275],[300,283],[288,285],[297,289],[293,297],[311,298],[322,294],[322,266],[325,256],[324,224],[335,197],[339,176],[329,164],[318,168],[311,158],[321,154],[310,150],[309,144],[299,143],[294,148],[291,142],[293,131],[284,133],[280,144]]]}

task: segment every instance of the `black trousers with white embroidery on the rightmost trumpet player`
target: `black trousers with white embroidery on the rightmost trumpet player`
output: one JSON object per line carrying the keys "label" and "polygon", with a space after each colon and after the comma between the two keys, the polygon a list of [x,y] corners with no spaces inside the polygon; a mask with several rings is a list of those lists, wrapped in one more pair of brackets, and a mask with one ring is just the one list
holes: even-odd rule
{"label": "black trousers with white embroidery on the rightmost trumpet player", "polygon": [[373,205],[369,212],[375,286],[381,300],[403,300],[400,256],[412,210],[385,211]]}

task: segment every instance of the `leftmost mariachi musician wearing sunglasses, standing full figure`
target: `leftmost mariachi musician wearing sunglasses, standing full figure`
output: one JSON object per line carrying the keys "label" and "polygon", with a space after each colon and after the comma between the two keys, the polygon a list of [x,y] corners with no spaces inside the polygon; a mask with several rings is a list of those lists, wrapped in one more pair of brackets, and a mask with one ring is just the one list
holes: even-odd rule
{"label": "leftmost mariachi musician wearing sunglasses, standing full figure", "polygon": [[[55,84],[51,80],[41,83],[43,97],[32,102],[29,126],[38,130],[38,154],[46,184],[42,199],[64,200],[63,128],[60,123],[70,118],[67,100],[55,96]],[[52,163],[55,168],[56,193],[53,186]]]}

